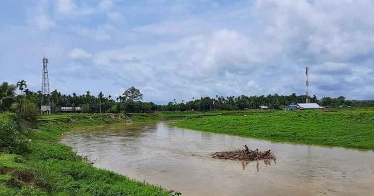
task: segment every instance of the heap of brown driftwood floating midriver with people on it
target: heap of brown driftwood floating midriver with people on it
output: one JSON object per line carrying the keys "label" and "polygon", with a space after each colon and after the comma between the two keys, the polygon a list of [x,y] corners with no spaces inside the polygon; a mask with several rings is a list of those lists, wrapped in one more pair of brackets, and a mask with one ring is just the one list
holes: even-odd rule
{"label": "heap of brown driftwood floating midriver with people on it", "polygon": [[231,159],[231,160],[245,160],[254,161],[260,159],[274,159],[274,153],[271,150],[260,151],[258,149],[251,150],[247,145],[243,146],[244,150],[230,150],[224,152],[215,152],[211,156],[216,159]]}

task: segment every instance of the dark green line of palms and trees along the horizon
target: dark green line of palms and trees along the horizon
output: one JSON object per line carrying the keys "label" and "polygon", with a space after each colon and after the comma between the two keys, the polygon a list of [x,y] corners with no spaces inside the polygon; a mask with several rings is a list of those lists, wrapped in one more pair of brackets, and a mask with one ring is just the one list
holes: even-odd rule
{"label": "dark green line of palms and trees along the horizon", "polygon": [[[21,94],[16,95],[16,90]],[[51,112],[61,112],[61,107],[81,107],[84,113],[139,113],[154,111],[217,111],[217,110],[244,110],[257,109],[259,106],[267,106],[269,109],[283,109],[291,103],[304,103],[305,95],[278,95],[269,94],[267,96],[218,96],[200,97],[195,99],[191,97],[190,101],[175,99],[166,105],[157,105],[153,102],[142,102],[142,93],[139,89],[131,87],[126,89],[122,95],[112,97],[99,92],[93,95],[91,91],[84,94],[71,95],[62,94],[58,90],[50,93]],[[0,85],[0,111],[13,111],[18,113],[35,112],[33,110],[40,108],[42,99],[41,91],[31,91],[27,88],[25,80],[17,84],[3,82]],[[310,103],[318,103],[321,106],[339,107],[373,107],[374,100],[346,100],[345,97],[336,98],[322,97],[318,100],[314,95],[310,97]],[[31,108],[31,109],[30,109]]]}

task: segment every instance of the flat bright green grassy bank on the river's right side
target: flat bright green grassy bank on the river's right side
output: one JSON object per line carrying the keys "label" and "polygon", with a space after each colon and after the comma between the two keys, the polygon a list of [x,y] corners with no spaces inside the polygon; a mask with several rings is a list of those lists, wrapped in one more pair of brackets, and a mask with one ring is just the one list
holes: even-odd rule
{"label": "flat bright green grassy bank on the river's right side", "polygon": [[374,149],[373,108],[226,113],[172,125],[271,141]]}

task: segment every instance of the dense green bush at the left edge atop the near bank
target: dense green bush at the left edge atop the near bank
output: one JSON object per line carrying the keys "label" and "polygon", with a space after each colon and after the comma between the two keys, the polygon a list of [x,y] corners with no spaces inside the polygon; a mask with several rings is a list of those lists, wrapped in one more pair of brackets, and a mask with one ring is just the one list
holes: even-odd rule
{"label": "dense green bush at the left edge atop the near bank", "polygon": [[0,152],[20,154],[27,150],[27,141],[14,121],[14,115],[0,113]]}

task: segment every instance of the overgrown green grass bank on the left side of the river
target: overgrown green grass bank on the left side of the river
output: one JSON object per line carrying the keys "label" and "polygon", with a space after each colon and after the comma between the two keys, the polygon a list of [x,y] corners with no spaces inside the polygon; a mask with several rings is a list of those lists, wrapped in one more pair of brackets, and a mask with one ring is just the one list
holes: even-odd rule
{"label": "overgrown green grass bank on the left side of the river", "polygon": [[[121,119],[81,119],[40,125],[21,131],[10,113],[0,113],[0,132],[19,137],[0,139],[0,196],[166,196],[166,190],[111,171],[97,169],[71,147],[59,143],[61,134],[73,127],[124,122]],[[4,142],[3,142],[4,141]],[[8,144],[14,144],[9,147]],[[21,145],[18,144],[24,144]]]}

